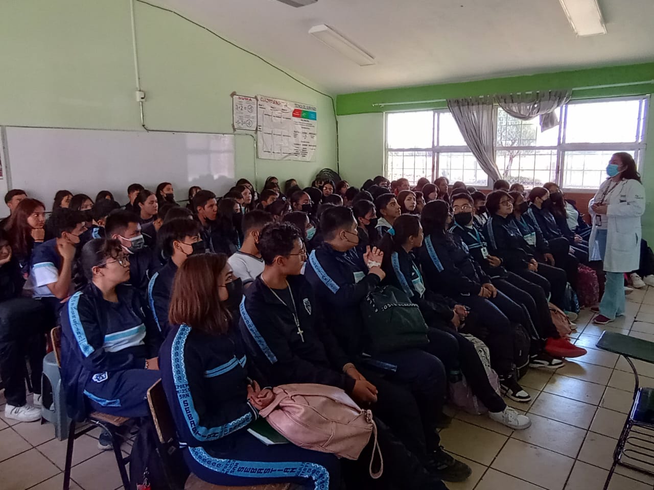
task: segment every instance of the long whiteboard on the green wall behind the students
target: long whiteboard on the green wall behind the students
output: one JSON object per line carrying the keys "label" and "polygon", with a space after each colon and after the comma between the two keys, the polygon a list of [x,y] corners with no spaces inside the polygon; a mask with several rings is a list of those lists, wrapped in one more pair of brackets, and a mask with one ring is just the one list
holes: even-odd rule
{"label": "long whiteboard on the green wall behind the students", "polygon": [[171,182],[178,201],[188,199],[190,186],[222,195],[235,182],[235,135],[7,127],[4,143],[10,188],[48,211],[59,189],[91,199],[108,190],[125,204],[135,182],[152,192]]}

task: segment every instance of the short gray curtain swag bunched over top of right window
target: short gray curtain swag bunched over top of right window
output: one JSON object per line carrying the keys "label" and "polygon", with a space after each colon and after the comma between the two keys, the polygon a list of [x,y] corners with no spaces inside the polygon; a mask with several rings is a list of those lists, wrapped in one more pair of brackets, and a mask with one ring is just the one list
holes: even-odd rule
{"label": "short gray curtain swag bunched over top of right window", "polygon": [[514,118],[528,120],[540,116],[541,131],[547,131],[547,129],[559,125],[556,110],[569,100],[569,90],[508,93],[495,96],[495,101],[500,107]]}

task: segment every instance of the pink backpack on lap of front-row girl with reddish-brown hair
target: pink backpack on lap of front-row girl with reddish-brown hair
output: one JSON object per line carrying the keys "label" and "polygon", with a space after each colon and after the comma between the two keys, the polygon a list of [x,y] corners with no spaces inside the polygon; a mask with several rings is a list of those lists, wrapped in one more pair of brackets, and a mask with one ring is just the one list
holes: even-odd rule
{"label": "pink backpack on lap of front-row girl with reddish-brown hair", "polygon": [[[340,388],[318,384],[290,384],[273,388],[275,400],[259,415],[277,432],[300,448],[358,459],[375,437],[370,459],[370,476],[379,478],[384,470],[377,445],[377,426],[370,410],[363,410]],[[373,473],[375,451],[379,472]]]}

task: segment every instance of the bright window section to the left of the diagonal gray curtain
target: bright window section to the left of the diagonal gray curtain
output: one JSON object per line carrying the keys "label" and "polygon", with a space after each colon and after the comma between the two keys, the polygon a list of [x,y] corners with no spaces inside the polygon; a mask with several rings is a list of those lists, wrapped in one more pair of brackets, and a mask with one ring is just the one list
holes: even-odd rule
{"label": "bright window section to the left of the diagonal gray curtain", "polygon": [[415,184],[438,176],[469,186],[488,186],[488,176],[470,152],[447,110],[391,112],[386,120],[387,176]]}

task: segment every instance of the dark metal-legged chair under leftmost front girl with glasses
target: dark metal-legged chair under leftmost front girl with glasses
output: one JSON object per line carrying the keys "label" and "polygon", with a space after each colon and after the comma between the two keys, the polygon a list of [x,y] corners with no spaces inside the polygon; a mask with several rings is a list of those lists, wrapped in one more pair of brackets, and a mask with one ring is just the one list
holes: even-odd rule
{"label": "dark metal-legged chair under leftmost front girl with glasses", "polygon": [[[61,327],[55,327],[52,329],[50,338],[52,339],[52,349],[54,351],[54,357],[57,361],[57,365],[58,367],[61,367]],[[61,391],[63,390],[60,390],[60,393]],[[63,395],[61,396],[63,397]],[[64,405],[62,405],[62,408],[65,412]],[[118,435],[118,429],[123,427],[131,419],[128,417],[118,417],[110,414],[103,414],[102,412],[92,412],[88,415],[85,421],[89,424],[88,427],[84,427],[77,433],[75,432],[75,428],[77,426],[75,420],[68,420],[68,444],[66,445],[66,463],[63,469],[63,490],[69,490],[71,485],[71,468],[73,467],[73,445],[75,444],[75,439],[77,439],[79,436],[82,436],[83,434],[92,431],[95,429],[95,427],[101,427],[101,429],[111,435],[111,443],[113,446],[114,455],[116,457],[118,471],[120,472],[120,480],[122,480],[124,489],[129,490],[129,478],[126,468],[126,465],[129,463],[129,456],[124,457],[122,455],[122,451],[120,450],[120,436]]]}

